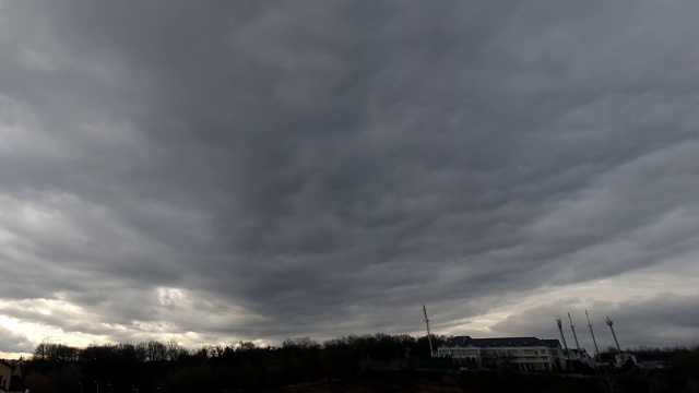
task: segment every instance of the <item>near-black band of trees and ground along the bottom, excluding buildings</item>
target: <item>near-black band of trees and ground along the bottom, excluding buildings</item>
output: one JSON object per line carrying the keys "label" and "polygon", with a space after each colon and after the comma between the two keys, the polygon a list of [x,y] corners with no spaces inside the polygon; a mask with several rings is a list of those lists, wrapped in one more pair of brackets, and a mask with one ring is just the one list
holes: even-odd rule
{"label": "near-black band of trees and ground along the bottom, excluding buildings", "polygon": [[[440,345],[447,337],[434,337]],[[104,344],[75,348],[42,343],[23,362],[35,393],[120,392],[699,392],[699,347],[638,348],[639,361],[665,370],[626,367],[582,374],[460,371],[429,359],[426,337],[365,335],[280,347],[238,343],[188,350],[177,343]],[[613,353],[603,354],[604,359]]]}

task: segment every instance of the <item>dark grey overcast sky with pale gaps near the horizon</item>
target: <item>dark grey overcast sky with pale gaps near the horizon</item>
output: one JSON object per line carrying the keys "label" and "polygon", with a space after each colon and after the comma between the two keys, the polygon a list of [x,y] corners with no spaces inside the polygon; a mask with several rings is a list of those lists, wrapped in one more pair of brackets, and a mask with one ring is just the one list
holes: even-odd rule
{"label": "dark grey overcast sky with pale gaps near the horizon", "polygon": [[0,350],[696,344],[697,15],[0,0]]}

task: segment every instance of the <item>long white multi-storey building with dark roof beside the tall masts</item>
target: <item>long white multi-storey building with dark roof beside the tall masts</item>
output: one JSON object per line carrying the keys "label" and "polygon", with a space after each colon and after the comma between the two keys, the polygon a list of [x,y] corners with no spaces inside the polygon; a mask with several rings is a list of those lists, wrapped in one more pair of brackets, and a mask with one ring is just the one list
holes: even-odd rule
{"label": "long white multi-storey building with dark roof beside the tall masts", "polygon": [[437,354],[451,357],[466,368],[555,371],[566,367],[566,356],[558,340],[458,336],[437,348]]}

